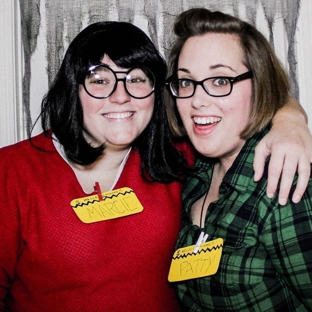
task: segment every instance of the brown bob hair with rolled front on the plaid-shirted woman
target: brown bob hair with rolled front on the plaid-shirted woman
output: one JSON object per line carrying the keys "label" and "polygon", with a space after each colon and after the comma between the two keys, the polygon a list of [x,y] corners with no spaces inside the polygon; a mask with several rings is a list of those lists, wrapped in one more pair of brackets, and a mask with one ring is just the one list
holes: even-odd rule
{"label": "brown bob hair with rolled front on the plaid-shirted woman", "polygon": [[[177,16],[174,24],[177,39],[169,56],[169,74],[175,75],[185,41],[208,32],[236,35],[245,54],[245,65],[253,71],[252,105],[249,124],[241,133],[248,139],[263,130],[290,94],[289,77],[265,36],[251,24],[220,11],[192,8]],[[167,115],[175,136],[185,135],[175,100],[167,94]]]}

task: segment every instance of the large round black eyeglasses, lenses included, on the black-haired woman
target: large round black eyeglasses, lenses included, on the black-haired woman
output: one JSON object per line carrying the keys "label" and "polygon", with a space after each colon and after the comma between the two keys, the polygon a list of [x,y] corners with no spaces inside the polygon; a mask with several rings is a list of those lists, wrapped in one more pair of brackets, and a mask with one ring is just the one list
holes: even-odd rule
{"label": "large round black eyeglasses, lenses included, on the black-haired woman", "polygon": [[[124,74],[117,78],[117,74]],[[134,98],[143,99],[155,88],[155,77],[146,67],[132,67],[128,71],[114,71],[106,65],[89,67],[83,87],[94,98],[106,98],[114,93],[118,81],[123,81],[126,92]]]}

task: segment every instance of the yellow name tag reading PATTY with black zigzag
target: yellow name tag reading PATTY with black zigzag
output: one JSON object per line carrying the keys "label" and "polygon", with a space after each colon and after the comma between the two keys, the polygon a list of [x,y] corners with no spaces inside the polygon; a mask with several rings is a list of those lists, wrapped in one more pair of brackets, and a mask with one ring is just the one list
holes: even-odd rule
{"label": "yellow name tag reading PATTY with black zigzag", "polygon": [[223,239],[202,244],[197,253],[194,247],[188,246],[178,249],[172,258],[169,282],[178,282],[201,278],[216,274],[223,248]]}

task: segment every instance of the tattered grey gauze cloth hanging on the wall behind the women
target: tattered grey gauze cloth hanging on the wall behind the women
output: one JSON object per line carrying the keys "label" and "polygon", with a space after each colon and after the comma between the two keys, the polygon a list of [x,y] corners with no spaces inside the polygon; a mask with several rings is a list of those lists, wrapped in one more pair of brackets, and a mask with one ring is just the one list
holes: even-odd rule
{"label": "tattered grey gauze cloth hanging on the wall behind the women", "polygon": [[[100,20],[133,22],[136,15],[147,19],[152,41],[168,58],[174,41],[172,26],[175,16],[191,7],[221,10],[245,18],[256,25],[259,10],[264,12],[269,40],[274,46],[273,30],[277,18],[283,18],[288,39],[288,67],[292,92],[299,98],[295,33],[300,0],[19,0],[24,49],[23,108],[26,131],[29,135],[31,64],[40,26],[40,5],[45,6],[46,71],[48,84],[54,79],[69,42],[87,24]],[[241,12],[244,11],[244,16]],[[118,40],[118,38],[117,38]]]}

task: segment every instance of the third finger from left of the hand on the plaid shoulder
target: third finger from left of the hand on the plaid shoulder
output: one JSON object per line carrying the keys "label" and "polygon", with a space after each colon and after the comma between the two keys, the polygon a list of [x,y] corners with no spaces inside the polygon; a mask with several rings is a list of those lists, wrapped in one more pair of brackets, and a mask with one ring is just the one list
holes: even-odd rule
{"label": "third finger from left of the hand on the plaid shoulder", "polygon": [[286,157],[280,180],[279,203],[286,205],[292,188],[299,160],[294,157]]}

